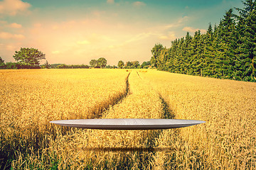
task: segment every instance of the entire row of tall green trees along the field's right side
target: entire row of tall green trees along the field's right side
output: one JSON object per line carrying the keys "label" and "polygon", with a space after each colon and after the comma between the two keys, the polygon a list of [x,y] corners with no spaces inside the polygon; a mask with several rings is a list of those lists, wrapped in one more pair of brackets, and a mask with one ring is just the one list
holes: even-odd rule
{"label": "entire row of tall green trees along the field's right side", "polygon": [[[151,64],[159,70],[220,79],[256,81],[256,3],[230,8],[206,33],[178,38],[166,48],[156,44]],[[234,10],[238,14],[234,14]]]}

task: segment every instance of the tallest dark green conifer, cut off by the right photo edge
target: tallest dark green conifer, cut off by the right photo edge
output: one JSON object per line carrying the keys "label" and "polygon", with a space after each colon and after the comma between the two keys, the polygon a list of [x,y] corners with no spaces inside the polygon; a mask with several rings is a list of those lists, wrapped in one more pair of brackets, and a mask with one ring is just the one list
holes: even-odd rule
{"label": "tallest dark green conifer, cut off by the right photo edge", "polygon": [[238,19],[238,46],[235,62],[236,77],[245,81],[255,81],[256,60],[256,1],[242,1],[244,8],[236,8],[240,15]]}

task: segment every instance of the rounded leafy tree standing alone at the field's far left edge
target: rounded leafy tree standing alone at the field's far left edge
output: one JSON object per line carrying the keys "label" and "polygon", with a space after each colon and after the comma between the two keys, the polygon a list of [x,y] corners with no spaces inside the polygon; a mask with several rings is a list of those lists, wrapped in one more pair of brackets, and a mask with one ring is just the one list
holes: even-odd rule
{"label": "rounded leafy tree standing alone at the field's far left edge", "polygon": [[[46,55],[43,52],[35,48],[25,48],[17,52],[15,51],[14,59],[21,65],[21,68],[38,68],[40,60],[46,59]],[[40,67],[39,67],[40,68]]]}

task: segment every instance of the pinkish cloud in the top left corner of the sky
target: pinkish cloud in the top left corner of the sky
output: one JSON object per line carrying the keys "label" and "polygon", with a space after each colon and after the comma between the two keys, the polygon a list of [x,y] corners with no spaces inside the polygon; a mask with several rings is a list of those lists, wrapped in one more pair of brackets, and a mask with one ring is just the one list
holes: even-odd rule
{"label": "pinkish cloud in the top left corner of the sky", "polygon": [[0,1],[0,14],[16,16],[17,13],[27,13],[31,4],[21,0]]}

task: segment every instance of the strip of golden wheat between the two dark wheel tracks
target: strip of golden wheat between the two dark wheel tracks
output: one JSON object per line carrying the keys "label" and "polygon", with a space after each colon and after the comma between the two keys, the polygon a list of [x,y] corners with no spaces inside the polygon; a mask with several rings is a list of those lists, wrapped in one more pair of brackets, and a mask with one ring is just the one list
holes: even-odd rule
{"label": "strip of golden wheat between the two dark wheel tracks", "polygon": [[[129,74],[129,93],[111,106],[102,118],[163,118],[163,100],[136,71]],[[167,110],[166,110],[167,111]],[[152,167],[155,141],[160,130],[84,130],[80,159],[90,159],[91,166],[106,169]],[[76,138],[79,136],[76,136]],[[108,162],[108,164],[105,164]]]}

